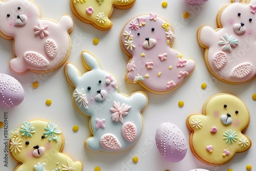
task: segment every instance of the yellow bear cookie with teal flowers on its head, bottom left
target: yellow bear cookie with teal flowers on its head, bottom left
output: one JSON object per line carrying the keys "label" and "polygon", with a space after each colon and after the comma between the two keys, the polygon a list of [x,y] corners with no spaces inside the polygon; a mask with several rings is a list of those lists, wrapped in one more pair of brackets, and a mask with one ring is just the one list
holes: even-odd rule
{"label": "yellow bear cookie with teal flowers on its head, bottom left", "polygon": [[82,164],[62,153],[64,137],[58,126],[47,120],[25,121],[10,132],[10,154],[20,164],[15,171],[73,170]]}

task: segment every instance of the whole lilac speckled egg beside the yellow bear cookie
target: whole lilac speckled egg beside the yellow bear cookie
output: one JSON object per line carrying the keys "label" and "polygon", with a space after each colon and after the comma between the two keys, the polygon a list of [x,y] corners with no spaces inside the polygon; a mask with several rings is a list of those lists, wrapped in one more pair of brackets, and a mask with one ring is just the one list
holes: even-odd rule
{"label": "whole lilac speckled egg beside the yellow bear cookie", "polygon": [[187,153],[184,134],[173,123],[165,122],[156,131],[156,145],[161,156],[170,162],[181,161]]}

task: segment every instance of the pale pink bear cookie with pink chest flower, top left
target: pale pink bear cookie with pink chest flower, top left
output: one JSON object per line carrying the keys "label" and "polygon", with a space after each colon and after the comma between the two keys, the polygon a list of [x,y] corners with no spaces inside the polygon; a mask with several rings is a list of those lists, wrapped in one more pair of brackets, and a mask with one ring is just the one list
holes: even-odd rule
{"label": "pale pink bear cookie with pink chest flower, top left", "polygon": [[39,8],[29,0],[0,1],[0,15],[0,36],[13,39],[14,72],[51,72],[67,60],[73,29],[70,16],[63,15],[59,22],[41,19]]}

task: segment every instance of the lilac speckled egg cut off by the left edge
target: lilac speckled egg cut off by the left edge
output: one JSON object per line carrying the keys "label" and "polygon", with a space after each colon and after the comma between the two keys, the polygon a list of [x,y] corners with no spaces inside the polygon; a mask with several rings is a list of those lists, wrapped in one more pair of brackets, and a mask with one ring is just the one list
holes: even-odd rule
{"label": "lilac speckled egg cut off by the left edge", "polygon": [[14,108],[25,96],[22,85],[10,75],[0,73],[0,107]]}

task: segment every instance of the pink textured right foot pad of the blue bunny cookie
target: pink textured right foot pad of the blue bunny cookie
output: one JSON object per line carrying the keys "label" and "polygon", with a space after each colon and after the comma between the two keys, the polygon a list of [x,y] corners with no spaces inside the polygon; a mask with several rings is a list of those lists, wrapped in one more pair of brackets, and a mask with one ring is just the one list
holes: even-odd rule
{"label": "pink textured right foot pad of the blue bunny cookie", "polygon": [[128,142],[133,142],[137,136],[137,127],[133,122],[125,122],[122,126],[122,135]]}

